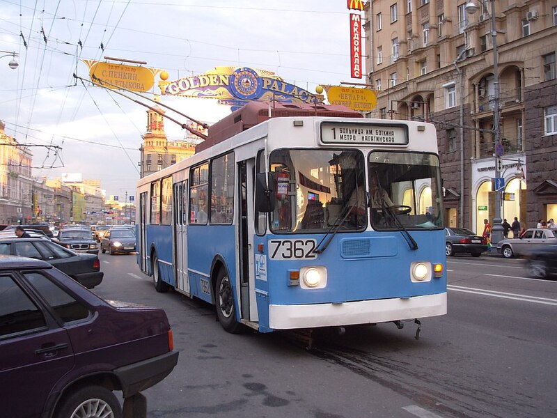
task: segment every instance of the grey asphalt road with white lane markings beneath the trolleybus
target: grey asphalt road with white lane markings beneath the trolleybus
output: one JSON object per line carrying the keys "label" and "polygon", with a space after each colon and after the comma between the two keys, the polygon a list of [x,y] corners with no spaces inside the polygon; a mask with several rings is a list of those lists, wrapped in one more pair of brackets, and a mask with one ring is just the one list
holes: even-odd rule
{"label": "grey asphalt road with white lane markings beneath the trolleybus", "polygon": [[107,299],[163,307],[178,366],[149,417],[552,417],[557,281],[519,260],[448,258],[448,314],[306,336],[224,332],[209,305],[156,293],[134,255],[100,254]]}

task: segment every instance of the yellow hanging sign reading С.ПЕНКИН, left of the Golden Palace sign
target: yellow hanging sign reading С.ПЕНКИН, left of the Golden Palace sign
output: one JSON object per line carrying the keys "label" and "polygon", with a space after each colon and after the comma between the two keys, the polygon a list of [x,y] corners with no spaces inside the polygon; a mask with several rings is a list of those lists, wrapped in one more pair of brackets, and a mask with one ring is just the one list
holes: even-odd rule
{"label": "yellow hanging sign reading \u0421.\u041f\u0415\u041d\u041a\u0418\u041d, left of the Golden Palace sign", "polygon": [[159,68],[113,64],[92,59],[81,61],[87,64],[92,82],[113,89],[150,91],[155,84],[155,76],[161,72]]}

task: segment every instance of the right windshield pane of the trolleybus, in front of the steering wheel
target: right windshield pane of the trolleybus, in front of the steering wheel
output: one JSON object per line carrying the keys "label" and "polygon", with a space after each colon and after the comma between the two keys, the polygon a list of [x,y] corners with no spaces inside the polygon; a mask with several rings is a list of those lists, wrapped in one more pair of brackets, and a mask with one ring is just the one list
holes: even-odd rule
{"label": "right windshield pane of the trolleybus, in front of the steering wheel", "polygon": [[372,152],[368,164],[373,229],[439,229],[444,225],[437,155]]}

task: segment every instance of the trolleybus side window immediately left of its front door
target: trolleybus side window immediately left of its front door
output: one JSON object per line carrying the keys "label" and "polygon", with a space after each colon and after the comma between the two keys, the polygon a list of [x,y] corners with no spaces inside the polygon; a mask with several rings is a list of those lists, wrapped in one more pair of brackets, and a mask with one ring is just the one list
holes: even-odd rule
{"label": "trolleybus side window immediately left of its front door", "polygon": [[211,224],[232,224],[234,213],[234,153],[211,162]]}

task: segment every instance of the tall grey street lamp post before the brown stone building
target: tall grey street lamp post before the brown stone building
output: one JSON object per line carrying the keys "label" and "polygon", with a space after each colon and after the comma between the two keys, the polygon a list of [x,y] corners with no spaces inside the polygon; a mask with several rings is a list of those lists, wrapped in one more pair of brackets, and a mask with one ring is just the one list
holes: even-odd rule
{"label": "tall grey street lamp post before the brown stone building", "polygon": [[[493,84],[494,84],[494,102],[495,106],[493,109],[493,139],[494,139],[494,157],[495,157],[495,216],[493,218],[493,228],[492,228],[492,242],[499,242],[503,239],[503,226],[501,225],[501,194],[498,193],[501,190],[498,190],[497,187],[501,185],[500,176],[500,167],[499,163],[501,162],[500,158],[501,155],[497,155],[499,153],[499,149],[501,149],[501,131],[499,129],[499,120],[500,116],[500,109],[499,109],[499,99],[501,98],[501,91],[499,86],[499,54],[497,54],[497,29],[495,24],[495,0],[483,0],[489,1],[491,4],[491,13],[490,20],[491,20],[491,35],[492,35],[492,46],[493,46]],[[470,0],[464,6],[464,10],[466,13],[473,15],[478,11],[478,3],[474,0]]]}

